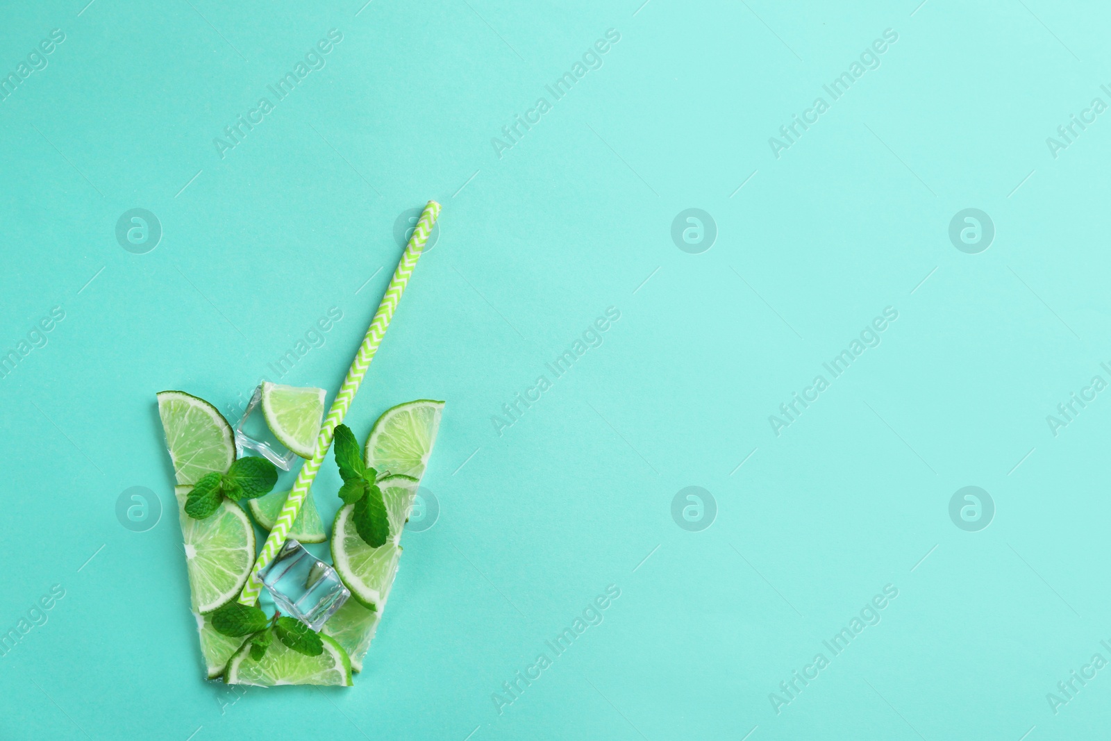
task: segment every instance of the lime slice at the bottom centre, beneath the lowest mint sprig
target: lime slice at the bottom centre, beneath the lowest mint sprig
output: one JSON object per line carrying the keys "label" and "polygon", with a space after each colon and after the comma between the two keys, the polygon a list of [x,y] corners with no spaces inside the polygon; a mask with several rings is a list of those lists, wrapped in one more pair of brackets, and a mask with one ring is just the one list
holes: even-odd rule
{"label": "lime slice at the bottom centre, beneath the lowest mint sprig", "polygon": [[339,684],[351,687],[351,660],[340,644],[327,635],[320,639],[324,652],[307,657],[274,639],[259,661],[251,658],[251,644],[243,644],[228,662],[223,681],[228,684]]}

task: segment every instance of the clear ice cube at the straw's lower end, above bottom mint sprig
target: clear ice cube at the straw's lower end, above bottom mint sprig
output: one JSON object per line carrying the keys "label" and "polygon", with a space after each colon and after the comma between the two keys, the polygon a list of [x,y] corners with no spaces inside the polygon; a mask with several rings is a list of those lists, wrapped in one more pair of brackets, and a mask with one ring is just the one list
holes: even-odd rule
{"label": "clear ice cube at the straw's lower end, above bottom mint sprig", "polygon": [[336,570],[292,538],[262,570],[262,583],[282,614],[320,630],[351,597]]}

